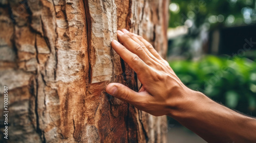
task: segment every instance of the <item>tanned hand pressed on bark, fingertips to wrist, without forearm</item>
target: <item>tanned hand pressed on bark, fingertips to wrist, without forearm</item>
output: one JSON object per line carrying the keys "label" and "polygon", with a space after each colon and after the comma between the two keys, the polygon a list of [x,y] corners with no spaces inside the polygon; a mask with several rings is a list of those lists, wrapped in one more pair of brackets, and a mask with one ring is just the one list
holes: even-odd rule
{"label": "tanned hand pressed on bark, fingertips to wrist, without forearm", "polygon": [[122,44],[113,40],[111,45],[137,73],[142,87],[136,92],[120,83],[110,83],[106,86],[107,93],[155,116],[170,114],[172,109],[182,109],[184,105],[189,106],[186,103],[195,91],[180,81],[152,44],[125,29],[118,30],[117,37]]}

